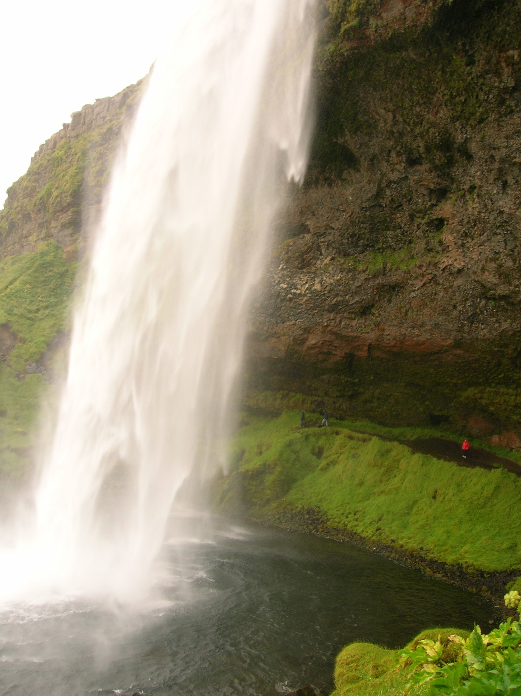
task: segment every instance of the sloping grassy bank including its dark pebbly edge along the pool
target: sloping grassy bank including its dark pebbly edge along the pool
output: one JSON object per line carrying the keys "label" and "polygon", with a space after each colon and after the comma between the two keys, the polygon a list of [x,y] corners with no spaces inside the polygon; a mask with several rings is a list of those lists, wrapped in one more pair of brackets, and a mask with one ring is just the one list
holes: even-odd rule
{"label": "sloping grassy bank including its dark pebbly edge along the pool", "polygon": [[492,456],[467,468],[346,423],[299,422],[243,416],[231,471],[212,482],[219,513],[349,541],[501,604],[521,574],[521,522],[508,514],[521,505],[517,472]]}

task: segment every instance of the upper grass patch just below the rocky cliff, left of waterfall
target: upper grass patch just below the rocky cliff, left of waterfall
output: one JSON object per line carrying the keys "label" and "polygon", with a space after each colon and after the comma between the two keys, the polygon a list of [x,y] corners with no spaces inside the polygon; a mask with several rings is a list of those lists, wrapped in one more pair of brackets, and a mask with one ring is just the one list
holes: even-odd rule
{"label": "upper grass patch just below the rocky cliff, left of waterfall", "polygon": [[21,340],[9,356],[14,370],[23,372],[26,363],[37,361],[63,328],[76,266],[55,242],[0,262],[0,324]]}

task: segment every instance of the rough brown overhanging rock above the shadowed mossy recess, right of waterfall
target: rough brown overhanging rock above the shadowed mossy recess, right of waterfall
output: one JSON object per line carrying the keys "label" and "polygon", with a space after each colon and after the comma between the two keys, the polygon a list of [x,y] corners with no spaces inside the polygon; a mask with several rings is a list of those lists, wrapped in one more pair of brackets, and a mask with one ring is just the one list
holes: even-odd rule
{"label": "rough brown overhanging rock above the shadowed mossy recess, right of waterfall", "polygon": [[[521,328],[521,102],[499,42],[517,48],[519,8],[483,4],[460,0],[423,33],[323,68],[320,116],[335,122],[319,118],[254,331],[334,358],[350,344],[360,355],[369,345],[450,352],[455,340]],[[466,64],[453,77],[472,113],[449,100],[456,58],[437,42]],[[520,66],[515,50],[513,84]],[[319,147],[327,136],[352,152],[334,172]]]}

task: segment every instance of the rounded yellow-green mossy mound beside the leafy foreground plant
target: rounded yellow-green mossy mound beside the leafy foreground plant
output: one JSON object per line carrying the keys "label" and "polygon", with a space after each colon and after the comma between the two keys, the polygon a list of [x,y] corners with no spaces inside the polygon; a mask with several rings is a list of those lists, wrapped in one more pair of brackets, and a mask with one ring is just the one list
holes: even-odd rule
{"label": "rounded yellow-green mossy mound beside the leafy foreground plant", "polygon": [[[449,643],[449,635],[457,633],[462,638],[467,638],[468,631],[458,628],[432,628],[422,631],[409,644],[416,644],[419,640],[440,638],[442,644]],[[373,643],[352,643],[341,650],[335,661],[334,680],[336,689],[332,696],[402,696],[407,684],[406,672],[395,669],[395,650],[389,650]],[[449,654],[443,655],[448,660]],[[425,690],[425,689],[423,689]],[[410,690],[412,694],[421,693],[421,690]]]}

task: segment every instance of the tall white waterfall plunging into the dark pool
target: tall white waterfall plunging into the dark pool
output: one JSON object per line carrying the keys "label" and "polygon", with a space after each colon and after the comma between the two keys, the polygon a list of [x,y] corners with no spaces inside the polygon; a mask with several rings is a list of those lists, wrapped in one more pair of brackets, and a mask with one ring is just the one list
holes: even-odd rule
{"label": "tall white waterfall plunging into the dark pool", "polygon": [[[302,182],[312,0],[197,0],[151,74],[75,313],[33,529],[1,596],[146,591],[220,457],[284,182]],[[8,569],[7,569],[8,568]]]}

